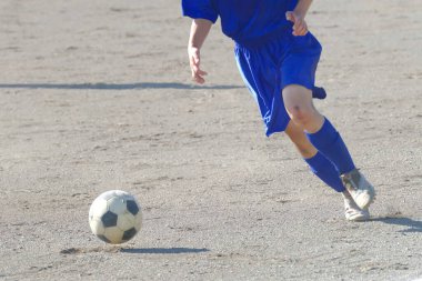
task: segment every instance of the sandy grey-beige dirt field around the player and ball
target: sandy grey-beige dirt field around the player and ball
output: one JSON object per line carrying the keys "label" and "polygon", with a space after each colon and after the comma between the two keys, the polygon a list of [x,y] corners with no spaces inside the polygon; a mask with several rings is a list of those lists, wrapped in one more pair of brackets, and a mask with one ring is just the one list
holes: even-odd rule
{"label": "sandy grey-beige dirt field around the player and ball", "polygon": [[[314,1],[308,21],[369,222],[264,137],[219,26],[192,84],[179,1],[1,0],[0,280],[422,278],[422,1]],[[112,189],[143,208],[121,247],[88,224]]]}

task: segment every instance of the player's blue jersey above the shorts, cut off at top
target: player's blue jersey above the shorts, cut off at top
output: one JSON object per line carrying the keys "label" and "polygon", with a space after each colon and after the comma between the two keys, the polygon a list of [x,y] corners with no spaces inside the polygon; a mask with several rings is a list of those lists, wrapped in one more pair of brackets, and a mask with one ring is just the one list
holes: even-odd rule
{"label": "player's blue jersey above the shorts, cut off at top", "polygon": [[183,16],[215,22],[237,42],[252,42],[292,23],[285,12],[294,10],[298,0],[182,0]]}

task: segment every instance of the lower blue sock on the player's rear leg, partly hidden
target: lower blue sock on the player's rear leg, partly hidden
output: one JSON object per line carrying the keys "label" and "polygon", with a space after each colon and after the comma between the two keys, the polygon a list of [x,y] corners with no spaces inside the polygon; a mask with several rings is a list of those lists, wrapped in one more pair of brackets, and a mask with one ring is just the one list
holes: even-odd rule
{"label": "lower blue sock on the player's rear leg, partly hidden", "polygon": [[345,190],[340,179],[339,171],[330,160],[321,154],[321,152],[316,152],[314,157],[304,159],[304,161],[307,161],[311,171],[333,190],[338,192],[343,192]]}

